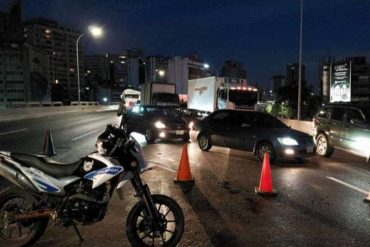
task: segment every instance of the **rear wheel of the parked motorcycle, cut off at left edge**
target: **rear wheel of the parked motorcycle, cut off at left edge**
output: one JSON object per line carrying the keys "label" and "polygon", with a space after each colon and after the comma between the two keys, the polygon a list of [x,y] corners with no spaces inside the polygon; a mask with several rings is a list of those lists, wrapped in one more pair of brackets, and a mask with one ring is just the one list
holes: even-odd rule
{"label": "rear wheel of the parked motorcycle, cut off at left edge", "polygon": [[29,246],[44,233],[48,218],[12,221],[12,214],[34,210],[36,198],[18,187],[0,192],[0,246]]}

